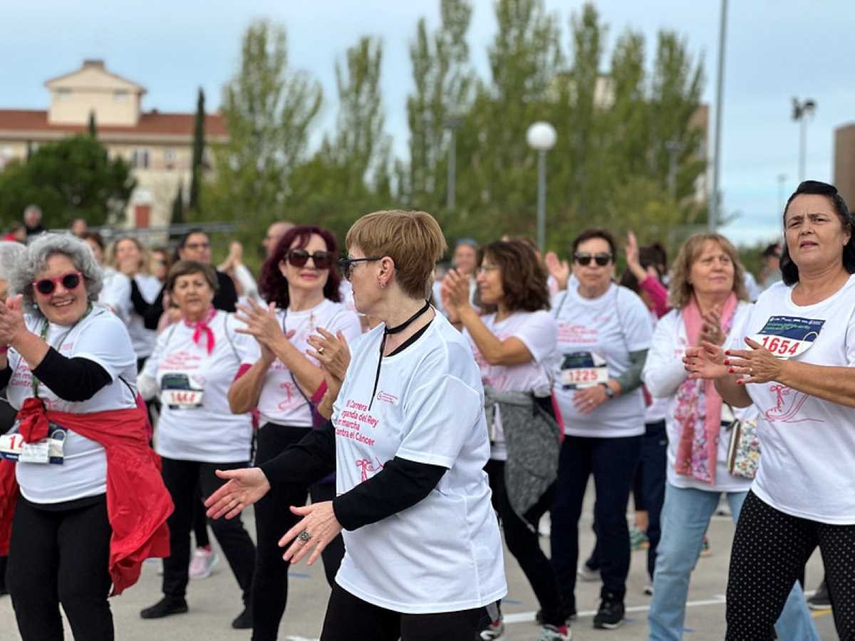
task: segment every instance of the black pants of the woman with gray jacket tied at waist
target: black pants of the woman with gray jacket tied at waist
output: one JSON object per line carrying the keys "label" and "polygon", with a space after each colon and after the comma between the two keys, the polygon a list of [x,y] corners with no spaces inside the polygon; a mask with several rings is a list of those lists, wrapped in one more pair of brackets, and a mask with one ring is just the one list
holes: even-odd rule
{"label": "black pants of the woman with gray jacket tied at waist", "polygon": [[[540,517],[545,515],[552,503],[553,492],[550,488],[540,501],[524,515],[522,520],[510,507],[508,492],[504,486],[504,461],[487,461],[487,476],[492,490],[492,506],[498,512],[504,530],[504,543],[520,564],[522,573],[526,575],[532,586],[534,596],[543,610],[545,623],[553,626],[563,626],[564,617],[561,609],[561,597],[555,572],[549,559],[540,549],[537,526]],[[527,522],[528,521],[528,522]]]}

